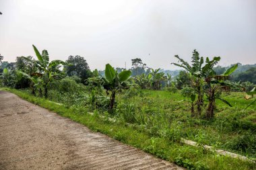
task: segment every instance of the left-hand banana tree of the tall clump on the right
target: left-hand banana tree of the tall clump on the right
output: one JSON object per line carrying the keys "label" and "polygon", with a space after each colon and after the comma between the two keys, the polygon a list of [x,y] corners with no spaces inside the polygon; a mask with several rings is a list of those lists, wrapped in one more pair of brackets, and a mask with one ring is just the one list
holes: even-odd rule
{"label": "left-hand banana tree of the tall clump on the right", "polygon": [[203,95],[204,95],[204,89],[203,86],[205,85],[205,78],[209,77],[210,75],[214,75],[214,65],[218,63],[220,60],[220,56],[215,56],[212,60],[210,60],[208,57],[205,60],[205,65],[204,64],[204,59],[203,56],[199,57],[199,52],[197,50],[193,51],[193,56],[191,57],[191,62],[192,65],[189,65],[188,62],[180,58],[178,55],[175,55],[174,57],[179,59],[180,64],[177,63],[171,63],[172,65],[176,65],[178,67],[181,67],[185,69],[186,71],[191,74],[191,79],[193,87],[195,87],[196,92],[197,92],[197,117],[201,118],[201,112],[202,109],[201,107],[203,106]]}

